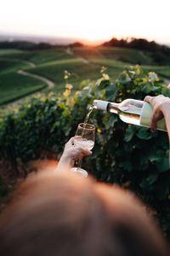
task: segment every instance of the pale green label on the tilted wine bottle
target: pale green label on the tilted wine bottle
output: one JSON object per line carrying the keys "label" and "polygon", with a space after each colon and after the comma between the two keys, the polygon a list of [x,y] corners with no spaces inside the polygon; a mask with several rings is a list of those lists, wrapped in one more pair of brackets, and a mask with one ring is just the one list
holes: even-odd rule
{"label": "pale green label on the tilted wine bottle", "polygon": [[[140,116],[140,125],[150,127],[150,121],[153,113],[153,108],[149,102],[144,102],[142,108],[142,114]],[[161,131],[167,131],[165,119],[161,119],[157,122],[157,129]]]}

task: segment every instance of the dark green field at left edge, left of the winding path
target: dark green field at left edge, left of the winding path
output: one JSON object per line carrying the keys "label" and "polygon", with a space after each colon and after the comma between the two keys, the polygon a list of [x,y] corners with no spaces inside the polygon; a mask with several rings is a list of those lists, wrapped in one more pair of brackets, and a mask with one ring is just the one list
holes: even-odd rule
{"label": "dark green field at left edge, left of the winding path", "polygon": [[[22,55],[22,51],[14,49],[0,50],[0,105],[13,102],[47,87],[47,84],[39,79],[17,73],[19,69],[25,69],[29,65],[20,61],[13,61],[13,59],[18,58],[16,55]],[[11,59],[11,61],[7,61],[5,58]]]}

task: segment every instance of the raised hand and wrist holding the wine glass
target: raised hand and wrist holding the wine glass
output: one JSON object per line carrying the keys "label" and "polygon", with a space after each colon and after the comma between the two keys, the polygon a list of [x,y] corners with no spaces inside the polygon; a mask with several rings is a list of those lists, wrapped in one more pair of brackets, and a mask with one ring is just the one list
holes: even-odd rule
{"label": "raised hand and wrist holding the wine glass", "polygon": [[85,155],[91,155],[92,152],[89,151],[87,148],[82,147],[75,147],[74,146],[74,139],[81,136],[71,137],[68,143],[65,143],[65,148],[63,154],[60,157],[57,171],[63,170],[65,168],[71,169],[74,166],[75,161],[81,159]]}

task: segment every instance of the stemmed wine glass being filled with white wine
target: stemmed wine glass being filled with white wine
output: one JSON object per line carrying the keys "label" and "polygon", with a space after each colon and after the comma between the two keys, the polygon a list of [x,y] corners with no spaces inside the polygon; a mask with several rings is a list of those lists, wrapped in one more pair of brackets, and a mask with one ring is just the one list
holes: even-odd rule
{"label": "stemmed wine glass being filled with white wine", "polygon": [[[94,148],[95,140],[95,126],[91,124],[81,123],[77,126],[76,136],[79,136],[74,139],[75,147],[82,147],[91,150]],[[80,137],[81,136],[81,137]],[[83,177],[88,176],[88,172],[81,168],[82,159],[78,160],[77,167],[71,168],[72,172],[78,172]]]}

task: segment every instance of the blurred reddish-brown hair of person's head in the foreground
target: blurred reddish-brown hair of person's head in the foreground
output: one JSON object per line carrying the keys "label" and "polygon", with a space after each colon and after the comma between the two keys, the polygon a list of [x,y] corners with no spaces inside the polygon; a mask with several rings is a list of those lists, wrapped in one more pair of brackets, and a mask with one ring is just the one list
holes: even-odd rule
{"label": "blurred reddish-brown hair of person's head in the foreground", "polygon": [[161,231],[133,194],[70,172],[37,173],[0,216],[4,256],[163,256]]}

